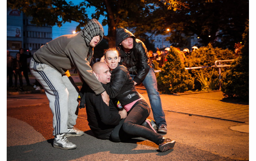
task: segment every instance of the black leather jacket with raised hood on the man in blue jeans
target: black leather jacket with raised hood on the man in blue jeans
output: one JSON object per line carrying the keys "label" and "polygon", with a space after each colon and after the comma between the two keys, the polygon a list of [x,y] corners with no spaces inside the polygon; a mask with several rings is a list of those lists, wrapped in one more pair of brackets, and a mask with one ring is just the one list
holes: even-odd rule
{"label": "black leather jacket with raised hood on the man in blue jeans", "polygon": [[[126,53],[119,44],[130,36],[133,38],[133,49],[129,53]],[[136,39],[127,29],[118,28],[116,31],[116,46],[119,48],[120,63],[123,63],[128,68],[130,74],[136,75],[133,80],[137,83],[143,81],[148,74],[149,68],[154,68],[151,65],[148,50],[144,43]]]}

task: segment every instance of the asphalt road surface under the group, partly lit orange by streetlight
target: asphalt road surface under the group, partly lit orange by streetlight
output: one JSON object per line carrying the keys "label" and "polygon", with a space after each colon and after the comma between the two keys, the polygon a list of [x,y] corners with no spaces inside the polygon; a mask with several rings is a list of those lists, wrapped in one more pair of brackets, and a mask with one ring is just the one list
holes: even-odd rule
{"label": "asphalt road surface under the group, partly lit orange by streetlight", "polygon": [[166,152],[143,138],[121,143],[96,139],[85,118],[78,118],[75,127],[86,134],[69,138],[77,148],[62,150],[52,147],[52,113],[45,94],[7,96],[7,160],[249,160],[249,134],[229,128],[243,123],[170,111],[165,117],[164,137],[176,140]]}

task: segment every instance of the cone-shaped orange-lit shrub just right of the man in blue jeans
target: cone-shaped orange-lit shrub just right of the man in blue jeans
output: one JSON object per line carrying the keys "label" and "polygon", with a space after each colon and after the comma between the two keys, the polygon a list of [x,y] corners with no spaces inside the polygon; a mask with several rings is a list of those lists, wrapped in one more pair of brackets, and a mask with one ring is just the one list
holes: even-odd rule
{"label": "cone-shaped orange-lit shrub just right of the man in blue jeans", "polygon": [[192,90],[194,78],[185,70],[177,50],[171,46],[171,50],[165,58],[167,61],[165,61],[162,71],[157,76],[158,90],[166,94]]}

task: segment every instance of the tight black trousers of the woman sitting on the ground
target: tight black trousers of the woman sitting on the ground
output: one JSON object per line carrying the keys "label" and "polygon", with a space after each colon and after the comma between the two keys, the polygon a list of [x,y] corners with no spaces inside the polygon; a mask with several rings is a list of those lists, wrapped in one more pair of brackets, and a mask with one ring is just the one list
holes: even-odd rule
{"label": "tight black trousers of the woman sitting on the ground", "polygon": [[129,111],[127,117],[120,121],[110,135],[110,140],[113,142],[125,141],[129,138],[142,137],[155,142],[157,145],[162,143],[163,136],[153,130],[141,126],[148,118],[150,108],[146,101],[137,101]]}

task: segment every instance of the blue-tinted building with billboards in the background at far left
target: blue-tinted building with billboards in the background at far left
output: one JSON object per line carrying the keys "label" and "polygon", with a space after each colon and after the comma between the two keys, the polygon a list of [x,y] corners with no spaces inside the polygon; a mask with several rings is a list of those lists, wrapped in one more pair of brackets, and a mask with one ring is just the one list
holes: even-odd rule
{"label": "blue-tinted building with billboards in the background at far left", "polygon": [[51,26],[37,27],[30,23],[31,20],[32,17],[27,17],[19,10],[7,9],[7,50],[14,58],[19,48],[23,48],[25,54],[28,54],[27,50],[33,54],[52,40]]}

